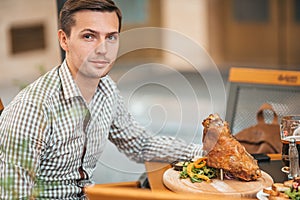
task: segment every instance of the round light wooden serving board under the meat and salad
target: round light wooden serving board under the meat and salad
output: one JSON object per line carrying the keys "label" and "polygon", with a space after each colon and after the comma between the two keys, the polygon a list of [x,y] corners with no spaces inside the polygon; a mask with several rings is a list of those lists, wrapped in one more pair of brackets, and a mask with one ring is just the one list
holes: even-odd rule
{"label": "round light wooden serving board under the meat and salad", "polygon": [[270,187],[272,177],[262,171],[262,177],[256,181],[239,181],[212,179],[212,182],[192,183],[189,178],[180,179],[179,171],[173,168],[165,171],[163,175],[164,185],[173,192],[189,192],[201,194],[229,195],[235,197],[255,197],[263,188]]}

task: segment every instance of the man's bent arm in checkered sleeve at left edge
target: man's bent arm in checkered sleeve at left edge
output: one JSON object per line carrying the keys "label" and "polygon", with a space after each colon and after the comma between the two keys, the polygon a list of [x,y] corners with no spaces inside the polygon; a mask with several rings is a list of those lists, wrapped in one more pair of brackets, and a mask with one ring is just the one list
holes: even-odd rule
{"label": "man's bent arm in checkered sleeve at left edge", "polygon": [[46,127],[38,105],[15,101],[0,118],[1,199],[28,197],[34,188]]}

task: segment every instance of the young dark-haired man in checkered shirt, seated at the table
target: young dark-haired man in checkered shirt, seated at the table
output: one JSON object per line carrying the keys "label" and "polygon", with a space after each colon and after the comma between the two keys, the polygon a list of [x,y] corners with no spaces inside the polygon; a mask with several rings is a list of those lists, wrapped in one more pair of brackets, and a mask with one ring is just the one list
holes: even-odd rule
{"label": "young dark-haired man in checkered shirt, seated at the table", "polygon": [[65,60],[22,90],[0,118],[1,199],[84,197],[107,140],[137,162],[200,154],[199,145],[150,136],[124,107],[107,75],[121,19],[111,0],[65,3],[58,30]]}

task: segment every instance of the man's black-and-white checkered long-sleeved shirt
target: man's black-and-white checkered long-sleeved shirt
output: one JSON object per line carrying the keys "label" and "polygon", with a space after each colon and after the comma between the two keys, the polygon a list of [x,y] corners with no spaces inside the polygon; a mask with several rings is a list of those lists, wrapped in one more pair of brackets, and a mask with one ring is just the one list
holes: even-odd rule
{"label": "man's black-and-white checkered long-sleeved shirt", "polygon": [[1,199],[78,199],[78,169],[90,179],[108,139],[137,162],[186,159],[201,152],[195,144],[150,136],[127,112],[109,76],[100,80],[87,104],[66,62],[6,107],[0,135]]}

